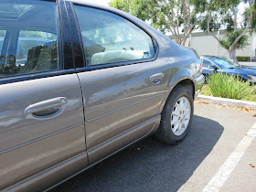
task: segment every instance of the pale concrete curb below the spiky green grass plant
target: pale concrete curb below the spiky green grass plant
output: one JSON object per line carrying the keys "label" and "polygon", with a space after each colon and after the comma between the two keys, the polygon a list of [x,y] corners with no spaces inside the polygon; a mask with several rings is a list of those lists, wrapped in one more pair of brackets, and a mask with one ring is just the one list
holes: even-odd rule
{"label": "pale concrete curb below the spiky green grass plant", "polygon": [[227,98],[210,97],[205,95],[198,95],[196,100],[215,103],[215,104],[227,104],[232,107],[247,107],[251,110],[256,111],[256,102],[252,102],[252,101],[232,100]]}

